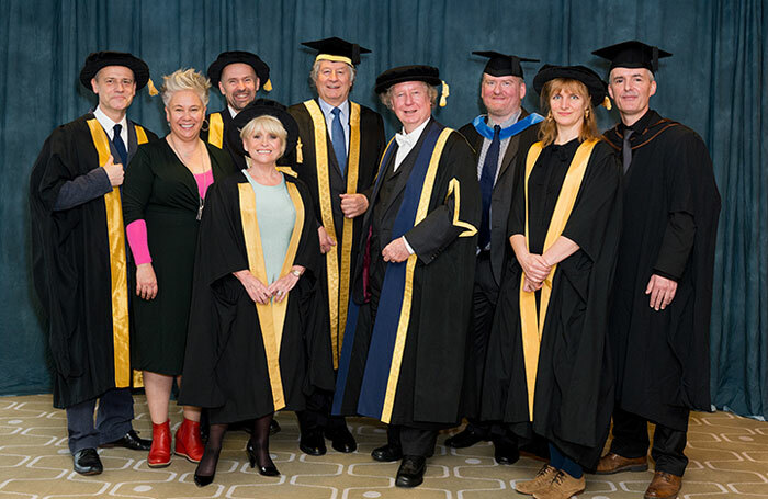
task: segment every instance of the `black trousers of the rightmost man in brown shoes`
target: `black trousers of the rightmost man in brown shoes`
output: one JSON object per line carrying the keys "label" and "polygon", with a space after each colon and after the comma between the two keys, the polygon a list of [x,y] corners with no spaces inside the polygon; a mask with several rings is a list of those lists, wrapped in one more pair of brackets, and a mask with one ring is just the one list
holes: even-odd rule
{"label": "black trousers of the rightmost man in brown shoes", "polygon": [[[642,457],[648,453],[648,421],[618,406],[613,409],[613,442],[611,452],[623,457]],[[657,472],[682,476],[688,465],[685,431],[673,430],[656,424],[651,457],[656,462]]]}

